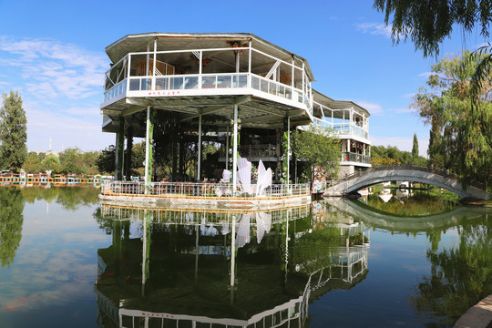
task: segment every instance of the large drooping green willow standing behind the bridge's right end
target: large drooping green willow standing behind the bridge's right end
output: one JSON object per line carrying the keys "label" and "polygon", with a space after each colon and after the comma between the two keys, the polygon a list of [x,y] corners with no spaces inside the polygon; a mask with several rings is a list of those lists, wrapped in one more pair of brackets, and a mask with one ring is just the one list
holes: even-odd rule
{"label": "large drooping green willow standing behind the bridge's right end", "polygon": [[471,78],[481,58],[447,57],[432,66],[427,86],[415,95],[412,107],[432,126],[429,155],[434,165],[443,165],[463,178],[463,183],[485,182],[492,173],[491,77],[480,91],[477,106],[471,106]]}

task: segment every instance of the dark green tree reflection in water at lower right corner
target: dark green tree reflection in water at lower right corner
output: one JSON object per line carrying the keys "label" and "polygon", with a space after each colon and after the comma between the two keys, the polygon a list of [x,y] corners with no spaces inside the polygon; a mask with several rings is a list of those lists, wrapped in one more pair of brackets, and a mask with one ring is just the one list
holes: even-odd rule
{"label": "dark green tree reflection in water at lower right corner", "polygon": [[[482,219],[465,221],[456,227],[459,245],[438,249],[432,243],[426,252],[431,262],[430,276],[424,276],[410,300],[419,313],[447,316],[455,323],[479,300],[492,293],[492,222]],[[430,236],[440,237],[440,231]]]}

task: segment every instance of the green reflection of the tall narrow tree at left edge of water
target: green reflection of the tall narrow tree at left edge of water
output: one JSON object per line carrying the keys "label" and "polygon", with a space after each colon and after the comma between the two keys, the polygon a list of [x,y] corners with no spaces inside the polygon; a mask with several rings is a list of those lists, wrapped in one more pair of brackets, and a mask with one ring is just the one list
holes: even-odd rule
{"label": "green reflection of the tall narrow tree at left edge of water", "polygon": [[15,188],[0,188],[0,262],[2,269],[14,261],[22,239],[24,198]]}

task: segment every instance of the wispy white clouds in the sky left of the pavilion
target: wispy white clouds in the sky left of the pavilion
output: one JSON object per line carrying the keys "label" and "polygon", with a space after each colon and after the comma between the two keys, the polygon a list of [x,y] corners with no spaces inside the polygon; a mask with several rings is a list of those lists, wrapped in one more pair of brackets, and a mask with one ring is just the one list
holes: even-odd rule
{"label": "wispy white clouds in the sky left of the pavilion", "polygon": [[0,36],[0,87],[17,89],[23,99],[29,150],[47,149],[50,136],[54,150],[97,150],[114,143],[101,132],[99,111],[108,63],[102,50]]}

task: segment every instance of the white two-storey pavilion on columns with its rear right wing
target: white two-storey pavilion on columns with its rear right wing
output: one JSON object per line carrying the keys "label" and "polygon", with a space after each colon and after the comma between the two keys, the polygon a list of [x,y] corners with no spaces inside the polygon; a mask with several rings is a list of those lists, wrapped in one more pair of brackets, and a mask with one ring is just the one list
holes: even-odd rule
{"label": "white two-storey pavilion on columns with its rear right wing", "polygon": [[[172,132],[169,183],[185,174],[183,138],[194,138],[196,145],[191,179],[210,178],[202,176],[201,168],[202,142],[208,141],[220,147],[222,164],[218,163],[217,169],[231,170],[232,182],[228,185],[233,198],[258,196],[240,192],[244,190],[236,179],[238,153],[251,162],[261,159],[267,169],[272,169],[274,181],[282,179],[288,185],[287,189],[273,185],[267,194],[280,198],[310,194],[309,188],[307,193],[302,191],[306,190],[304,185],[291,183],[296,178],[289,151],[292,128],[315,125],[342,138],[341,164],[350,168],[345,174],[354,168],[370,167],[369,113],[353,102],[333,100],[313,90],[314,77],[306,59],[258,36],[128,35],[108,46],[106,52],[112,64],[105,76],[102,128],[116,133],[118,181],[130,176],[127,163],[131,159],[124,156],[125,138],[127,150],[132,148],[133,137],[146,139],[145,182],[133,182],[133,187],[126,188],[138,190],[137,195],[159,193],[164,197],[160,187],[159,191],[151,191],[152,181],[162,178],[152,179],[153,139],[162,127]],[[287,168],[282,169],[285,158]],[[107,182],[103,196],[115,191],[117,181]],[[222,195],[212,192],[210,196]]]}

